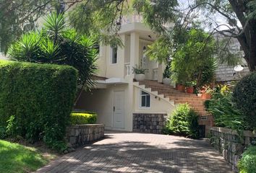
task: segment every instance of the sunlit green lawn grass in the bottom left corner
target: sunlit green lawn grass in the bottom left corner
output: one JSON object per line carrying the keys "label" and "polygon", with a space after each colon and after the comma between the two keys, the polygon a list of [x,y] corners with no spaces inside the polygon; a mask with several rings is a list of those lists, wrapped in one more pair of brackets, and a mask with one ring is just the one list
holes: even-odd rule
{"label": "sunlit green lawn grass in the bottom left corner", "polygon": [[36,148],[0,140],[0,172],[33,172],[54,158]]}

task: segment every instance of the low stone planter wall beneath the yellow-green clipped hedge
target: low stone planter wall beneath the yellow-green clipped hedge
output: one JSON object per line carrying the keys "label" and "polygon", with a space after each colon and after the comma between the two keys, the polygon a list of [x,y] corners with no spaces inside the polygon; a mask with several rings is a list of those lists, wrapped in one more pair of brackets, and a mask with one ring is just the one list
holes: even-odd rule
{"label": "low stone planter wall beneath the yellow-green clipped hedge", "polygon": [[66,139],[72,147],[76,148],[85,143],[104,137],[103,124],[72,125],[67,128]]}

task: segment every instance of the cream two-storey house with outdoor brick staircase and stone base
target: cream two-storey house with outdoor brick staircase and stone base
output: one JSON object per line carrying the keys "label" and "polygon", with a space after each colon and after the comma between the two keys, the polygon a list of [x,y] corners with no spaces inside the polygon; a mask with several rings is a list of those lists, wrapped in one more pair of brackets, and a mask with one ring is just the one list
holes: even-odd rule
{"label": "cream two-storey house with outdoor brick staircase and stone base", "polygon": [[[156,35],[145,26],[140,16],[127,17],[119,35],[124,48],[100,46],[99,72],[95,89],[82,93],[76,109],[98,113],[98,123],[106,129],[161,133],[164,120],[179,103],[188,102],[200,113],[202,133],[213,125],[203,102],[195,94],[178,92],[161,84],[165,66],[150,61],[144,52]],[[147,68],[145,81],[134,81],[132,67]]]}

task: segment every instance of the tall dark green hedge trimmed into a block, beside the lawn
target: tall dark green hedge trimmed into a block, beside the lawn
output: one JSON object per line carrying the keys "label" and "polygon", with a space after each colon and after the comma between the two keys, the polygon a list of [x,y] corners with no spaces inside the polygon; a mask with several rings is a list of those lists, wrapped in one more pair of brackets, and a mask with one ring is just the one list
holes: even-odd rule
{"label": "tall dark green hedge trimmed into a block, beside the lawn", "polygon": [[70,66],[0,61],[0,126],[9,135],[58,148],[76,87],[77,70]]}

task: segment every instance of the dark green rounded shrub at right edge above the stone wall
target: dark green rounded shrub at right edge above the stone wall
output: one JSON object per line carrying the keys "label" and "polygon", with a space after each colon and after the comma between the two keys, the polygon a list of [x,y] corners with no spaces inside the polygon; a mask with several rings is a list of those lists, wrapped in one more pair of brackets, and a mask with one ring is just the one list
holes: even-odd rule
{"label": "dark green rounded shrub at right edge above the stone wall", "polygon": [[245,123],[256,129],[256,72],[245,76],[234,87],[233,101],[243,112]]}

